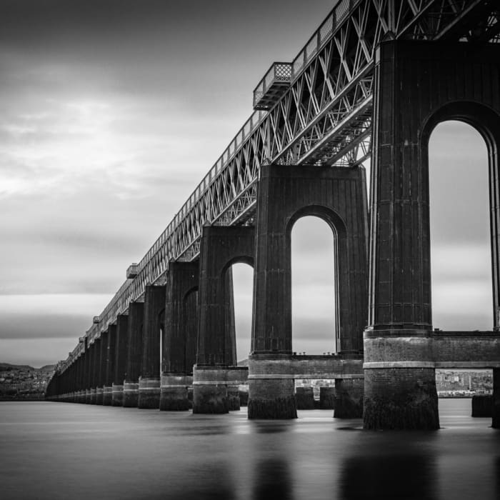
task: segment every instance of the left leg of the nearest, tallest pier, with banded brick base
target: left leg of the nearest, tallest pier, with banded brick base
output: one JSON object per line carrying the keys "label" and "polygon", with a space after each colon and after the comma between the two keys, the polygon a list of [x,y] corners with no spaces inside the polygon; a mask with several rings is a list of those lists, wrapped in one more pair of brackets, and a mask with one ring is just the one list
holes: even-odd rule
{"label": "left leg of the nearest, tallest pier, with banded brick base", "polygon": [[436,91],[416,75],[440,69],[420,66],[422,49],[435,48],[403,46],[391,41],[376,51],[365,429],[439,429],[428,171],[419,146],[426,101]]}

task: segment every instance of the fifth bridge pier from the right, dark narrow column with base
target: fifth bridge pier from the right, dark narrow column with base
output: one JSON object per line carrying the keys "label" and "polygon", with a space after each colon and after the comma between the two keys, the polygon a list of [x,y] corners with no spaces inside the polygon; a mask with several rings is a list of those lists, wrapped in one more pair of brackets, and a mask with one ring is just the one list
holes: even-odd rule
{"label": "fifth bridge pier from the right, dark narrow column with base", "polygon": [[144,334],[139,402],[141,409],[160,407],[160,340],[164,331],[165,286],[146,286],[144,292]]}

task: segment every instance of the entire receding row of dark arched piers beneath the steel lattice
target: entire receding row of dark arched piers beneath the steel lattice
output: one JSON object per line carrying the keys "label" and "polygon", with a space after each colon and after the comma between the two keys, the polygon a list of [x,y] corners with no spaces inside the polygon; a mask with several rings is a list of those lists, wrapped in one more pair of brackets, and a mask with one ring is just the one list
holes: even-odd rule
{"label": "entire receding row of dark arched piers beneath the steel lattice", "polygon": [[[366,429],[437,429],[435,370],[492,369],[499,427],[499,75],[497,46],[383,41],[374,61],[370,210],[361,166],[261,165],[254,214],[240,226],[204,226],[199,258],[171,261],[163,284],[146,286],[100,335],[82,339],[48,399],[186,410],[192,387],[194,412],[224,413],[248,383],[249,418],[290,419],[295,379],[335,379],[336,410],[362,413]],[[432,324],[428,144],[449,119],[475,126],[489,151],[491,331]],[[306,215],[334,233],[333,356],[292,349],[290,235]],[[236,364],[236,262],[254,268],[248,369]]]}

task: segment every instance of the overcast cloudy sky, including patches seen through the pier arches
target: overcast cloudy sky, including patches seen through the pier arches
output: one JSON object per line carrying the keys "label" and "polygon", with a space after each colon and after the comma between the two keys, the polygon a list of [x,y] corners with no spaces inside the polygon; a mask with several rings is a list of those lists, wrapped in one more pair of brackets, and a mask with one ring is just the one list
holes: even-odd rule
{"label": "overcast cloudy sky, including patches seen through the pier arches", "polygon": [[[146,253],[249,117],[252,91],[271,62],[293,59],[332,5],[2,1],[0,361],[41,366],[66,358],[127,266]],[[464,126],[442,128],[439,144],[431,143],[435,170],[448,172],[431,184],[440,214],[433,212],[434,324],[469,328],[463,325],[470,321],[486,329],[484,144]],[[449,161],[451,152],[458,157]],[[471,189],[471,181],[479,187]],[[466,196],[453,200],[450,191],[460,189]],[[473,195],[486,212],[464,208]],[[322,221],[297,227],[294,350],[333,351],[333,271],[325,271],[333,269],[331,234]],[[241,265],[235,274],[242,359],[250,344],[251,269]]]}

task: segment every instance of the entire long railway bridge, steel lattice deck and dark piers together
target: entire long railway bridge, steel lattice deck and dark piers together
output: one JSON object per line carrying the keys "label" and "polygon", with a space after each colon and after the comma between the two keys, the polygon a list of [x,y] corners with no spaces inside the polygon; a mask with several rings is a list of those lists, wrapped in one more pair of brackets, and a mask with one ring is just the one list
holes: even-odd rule
{"label": "entire long railway bridge, steel lattice deck and dark piers together", "polygon": [[[47,397],[294,418],[294,379],[336,380],[336,416],[437,429],[435,369],[494,371],[500,426],[500,8],[494,0],[340,0],[49,384]],[[434,331],[428,141],[446,119],[489,149],[494,329]],[[364,162],[371,160],[370,208]],[[291,227],[334,232],[337,352],[291,346]],[[248,369],[236,366],[231,264],[254,267]],[[332,334],[333,336],[333,334]],[[161,353],[161,355],[160,355]],[[160,366],[161,356],[161,370]]]}

